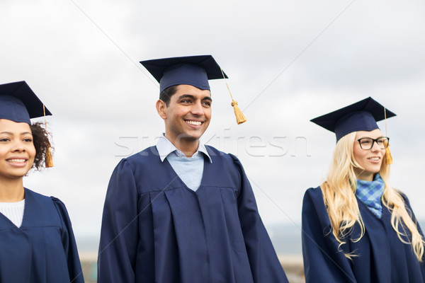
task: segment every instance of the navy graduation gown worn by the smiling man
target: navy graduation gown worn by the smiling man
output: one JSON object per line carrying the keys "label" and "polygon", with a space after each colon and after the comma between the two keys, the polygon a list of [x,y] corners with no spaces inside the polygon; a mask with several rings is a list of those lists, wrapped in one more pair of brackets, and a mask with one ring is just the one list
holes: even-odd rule
{"label": "navy graduation gown worn by the smiling man", "polygon": [[98,282],[288,282],[242,164],[207,146],[190,190],[152,146],[115,168],[106,194]]}

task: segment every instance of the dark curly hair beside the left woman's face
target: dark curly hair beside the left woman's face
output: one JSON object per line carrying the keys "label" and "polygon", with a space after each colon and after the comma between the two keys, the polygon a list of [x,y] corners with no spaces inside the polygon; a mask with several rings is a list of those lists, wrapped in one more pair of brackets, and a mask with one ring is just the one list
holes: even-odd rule
{"label": "dark curly hair beside the left woman's face", "polygon": [[46,151],[50,147],[49,136],[50,133],[46,132],[42,122],[35,122],[30,125],[33,132],[33,142],[35,147],[35,158],[33,168],[40,170],[44,167]]}

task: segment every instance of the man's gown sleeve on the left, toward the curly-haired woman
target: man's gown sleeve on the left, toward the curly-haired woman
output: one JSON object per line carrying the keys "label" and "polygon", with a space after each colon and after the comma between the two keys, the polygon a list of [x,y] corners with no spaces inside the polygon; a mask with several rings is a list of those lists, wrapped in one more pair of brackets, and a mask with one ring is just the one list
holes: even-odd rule
{"label": "man's gown sleeve on the left, toward the curly-haired woman", "polygon": [[118,163],[103,206],[98,251],[99,283],[135,282],[137,256],[137,188],[128,161]]}

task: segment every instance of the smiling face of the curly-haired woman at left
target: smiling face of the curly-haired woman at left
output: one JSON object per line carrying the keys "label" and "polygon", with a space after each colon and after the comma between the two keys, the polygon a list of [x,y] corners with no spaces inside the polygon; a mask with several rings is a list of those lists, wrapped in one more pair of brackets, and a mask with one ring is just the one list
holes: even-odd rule
{"label": "smiling face of the curly-haired woman at left", "polygon": [[22,178],[33,167],[34,158],[30,125],[0,119],[0,179]]}

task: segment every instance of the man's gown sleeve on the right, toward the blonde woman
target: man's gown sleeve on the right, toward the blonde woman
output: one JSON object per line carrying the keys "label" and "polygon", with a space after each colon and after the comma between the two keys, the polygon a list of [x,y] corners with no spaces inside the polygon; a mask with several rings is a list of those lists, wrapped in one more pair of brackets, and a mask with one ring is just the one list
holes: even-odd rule
{"label": "man's gown sleeve on the right, toward the blonde woman", "polygon": [[244,168],[236,156],[232,154],[230,156],[233,158],[234,166],[240,177],[241,187],[237,197],[239,221],[254,282],[287,283],[288,279],[259,216],[254,192]]}

